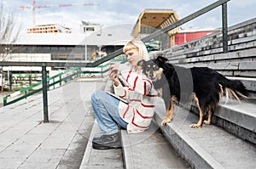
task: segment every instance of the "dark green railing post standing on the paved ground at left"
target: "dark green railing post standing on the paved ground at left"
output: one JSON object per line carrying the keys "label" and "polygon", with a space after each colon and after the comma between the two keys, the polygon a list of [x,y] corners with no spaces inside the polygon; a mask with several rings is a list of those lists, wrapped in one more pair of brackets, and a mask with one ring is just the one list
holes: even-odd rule
{"label": "dark green railing post standing on the paved ground at left", "polygon": [[47,100],[47,71],[46,71],[46,66],[42,66],[42,81],[43,81],[44,122],[49,122],[49,118],[48,118],[48,100]]}

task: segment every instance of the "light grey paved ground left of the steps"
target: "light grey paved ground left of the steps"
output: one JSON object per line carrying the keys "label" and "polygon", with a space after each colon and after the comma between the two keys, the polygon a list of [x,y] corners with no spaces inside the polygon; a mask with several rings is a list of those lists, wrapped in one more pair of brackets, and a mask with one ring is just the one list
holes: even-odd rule
{"label": "light grey paved ground left of the steps", "polygon": [[70,82],[49,91],[49,123],[42,94],[0,108],[0,168],[79,168],[94,122],[90,93],[105,82]]}

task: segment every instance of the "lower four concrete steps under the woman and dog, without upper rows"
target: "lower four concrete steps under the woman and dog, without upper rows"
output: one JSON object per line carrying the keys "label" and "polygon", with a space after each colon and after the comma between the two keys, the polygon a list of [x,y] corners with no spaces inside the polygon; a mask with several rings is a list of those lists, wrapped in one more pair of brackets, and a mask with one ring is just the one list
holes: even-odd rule
{"label": "lower four concrete steps under the woman and dog, without upper rows", "polygon": [[159,98],[154,121],[146,132],[121,131],[123,149],[92,149],[91,140],[98,130],[95,122],[80,169],[253,168],[256,166],[255,110],[256,104],[252,103],[221,104],[213,125],[194,129],[189,125],[198,121],[198,115],[176,107],[174,120],[161,127],[160,121],[166,113]]}

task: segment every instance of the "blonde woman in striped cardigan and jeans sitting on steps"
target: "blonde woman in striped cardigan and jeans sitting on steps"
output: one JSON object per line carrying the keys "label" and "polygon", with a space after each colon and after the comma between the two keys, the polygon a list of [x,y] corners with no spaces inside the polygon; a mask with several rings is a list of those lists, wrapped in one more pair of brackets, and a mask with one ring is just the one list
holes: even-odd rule
{"label": "blonde woman in striped cardigan and jeans sitting on steps", "polygon": [[[110,65],[109,77],[113,81],[115,95],[125,99],[124,103],[103,91],[97,90],[91,95],[92,107],[101,135],[92,140],[94,149],[121,148],[119,127],[128,133],[143,132],[148,128],[154,115],[154,99],[157,93],[152,82],[144,76],[137,66],[138,61],[148,60],[148,51],[140,40],[133,40],[125,44],[123,52],[126,54],[130,70],[121,70],[119,65]],[[124,79],[123,86],[120,79]]]}

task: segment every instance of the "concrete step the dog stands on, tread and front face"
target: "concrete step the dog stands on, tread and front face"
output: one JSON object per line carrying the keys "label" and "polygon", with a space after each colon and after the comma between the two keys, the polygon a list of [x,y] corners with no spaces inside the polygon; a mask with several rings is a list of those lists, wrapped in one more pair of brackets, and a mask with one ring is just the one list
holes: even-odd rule
{"label": "concrete step the dog stands on, tread and front face", "polygon": [[[160,106],[160,104],[164,105],[162,100],[158,101],[159,106],[154,115],[154,121],[160,126],[166,113],[164,106]],[[189,127],[197,121],[198,115],[176,107],[174,120],[165,127],[160,126],[177,153],[193,168],[254,168],[256,166],[255,144],[215,125],[203,125],[201,129]]]}

